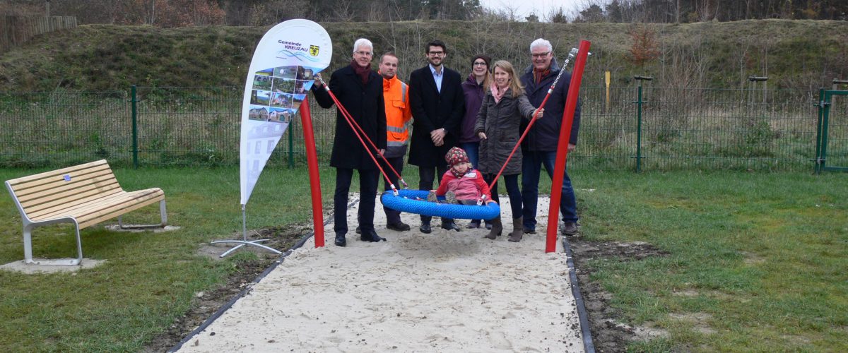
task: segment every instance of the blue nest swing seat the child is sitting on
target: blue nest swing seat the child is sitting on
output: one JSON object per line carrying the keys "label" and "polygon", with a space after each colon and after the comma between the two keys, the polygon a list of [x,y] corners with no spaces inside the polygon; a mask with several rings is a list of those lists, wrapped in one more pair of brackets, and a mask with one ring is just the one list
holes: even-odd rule
{"label": "blue nest swing seat the child is sitting on", "polygon": [[[500,215],[497,202],[488,205],[451,205],[427,201],[427,190],[398,190],[398,196],[392,191],[386,191],[380,196],[383,207],[400,212],[418,213],[424,216],[461,218],[461,219],[494,219]],[[444,200],[444,196],[439,196]]]}

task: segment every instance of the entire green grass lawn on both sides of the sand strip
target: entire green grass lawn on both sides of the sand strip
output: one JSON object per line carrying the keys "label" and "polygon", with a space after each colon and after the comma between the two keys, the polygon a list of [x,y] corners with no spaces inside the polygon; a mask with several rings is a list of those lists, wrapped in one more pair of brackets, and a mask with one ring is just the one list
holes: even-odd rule
{"label": "entire green grass lawn on both sides of the sand strip", "polygon": [[[6,169],[0,178],[34,173]],[[98,268],[0,272],[0,350],[141,350],[197,292],[250,260],[196,255],[199,245],[240,232],[236,168],[115,173],[126,190],[164,189],[169,223],[182,229],[119,234],[99,225],[82,231],[84,255],[107,260]],[[332,168],[325,174],[329,209]],[[404,176],[417,185],[414,168]],[[622,321],[669,332],[634,350],[848,350],[846,177],[576,171],[586,240],[645,241],[669,253],[592,262],[592,280],[611,292]],[[305,168],[265,170],[248,228],[310,223],[307,180]],[[8,196],[0,197],[0,216],[0,263],[20,260],[20,216]],[[125,218],[155,222],[158,207]],[[72,233],[70,224],[36,229],[35,256],[74,256]]]}

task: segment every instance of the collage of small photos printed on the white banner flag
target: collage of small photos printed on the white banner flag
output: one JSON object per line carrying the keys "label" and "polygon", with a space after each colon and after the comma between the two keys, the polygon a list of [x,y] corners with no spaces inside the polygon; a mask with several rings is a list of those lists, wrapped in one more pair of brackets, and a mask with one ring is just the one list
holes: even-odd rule
{"label": "collage of small photos printed on the white banner flag", "polygon": [[290,124],[318,71],[306,66],[281,66],[255,72],[248,119]]}

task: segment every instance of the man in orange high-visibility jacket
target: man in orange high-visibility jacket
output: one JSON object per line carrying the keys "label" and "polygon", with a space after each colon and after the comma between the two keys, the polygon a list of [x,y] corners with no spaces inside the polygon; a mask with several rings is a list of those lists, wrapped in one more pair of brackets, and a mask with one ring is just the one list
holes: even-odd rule
{"label": "man in orange high-visibility jacket", "polygon": [[[382,97],[386,104],[386,152],[383,153],[384,160],[380,160],[383,170],[395,187],[398,185],[398,176],[395,175],[387,163],[401,174],[404,169],[404,156],[410,142],[410,131],[407,123],[412,119],[410,109],[410,88],[401,80],[398,80],[398,57],[393,52],[382,54],[380,58],[380,74],[382,75]],[[385,190],[391,190],[388,182]],[[410,225],[400,221],[400,211],[384,208],[386,211],[386,228],[406,231]]]}

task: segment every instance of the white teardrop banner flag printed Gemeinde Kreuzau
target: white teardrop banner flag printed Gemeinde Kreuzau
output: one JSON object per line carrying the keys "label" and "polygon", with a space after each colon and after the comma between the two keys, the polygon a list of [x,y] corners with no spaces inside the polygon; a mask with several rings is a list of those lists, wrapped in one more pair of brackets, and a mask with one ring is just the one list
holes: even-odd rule
{"label": "white teardrop banner flag printed Gemeinde Kreuzau", "polygon": [[307,19],[275,25],[259,40],[244,83],[242,205],[248,203],[268,157],[306,99],[315,74],[326,69],[331,58],[330,36]]}

